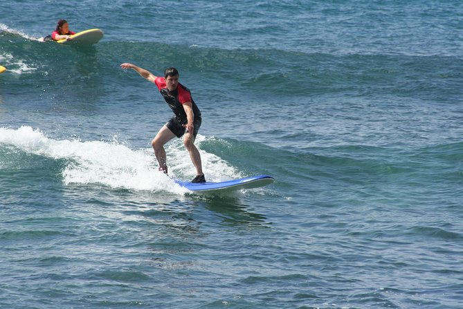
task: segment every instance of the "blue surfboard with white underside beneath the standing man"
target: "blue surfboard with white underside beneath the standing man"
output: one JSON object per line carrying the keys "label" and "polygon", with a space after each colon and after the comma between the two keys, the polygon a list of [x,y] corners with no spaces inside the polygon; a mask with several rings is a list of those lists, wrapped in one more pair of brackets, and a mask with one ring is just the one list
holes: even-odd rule
{"label": "blue surfboard with white underside beneath the standing man", "polygon": [[227,182],[183,182],[175,179],[174,182],[187,188],[190,191],[235,191],[242,189],[259,188],[268,184],[273,184],[275,179],[268,175],[259,175],[253,177],[245,177],[235,180],[228,180]]}

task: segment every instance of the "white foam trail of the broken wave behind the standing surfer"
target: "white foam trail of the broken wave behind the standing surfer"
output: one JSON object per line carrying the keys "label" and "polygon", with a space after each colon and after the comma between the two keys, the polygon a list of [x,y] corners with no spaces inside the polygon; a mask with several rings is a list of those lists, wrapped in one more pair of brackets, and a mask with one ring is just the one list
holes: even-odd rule
{"label": "white foam trail of the broken wave behind the standing surfer", "polygon": [[[206,141],[198,136],[197,144]],[[186,190],[158,171],[151,148],[133,150],[118,141],[55,140],[41,130],[22,126],[17,130],[0,127],[0,143],[14,145],[31,154],[65,159],[62,181],[69,184],[102,184],[111,188],[167,191],[184,194]],[[171,177],[194,177],[194,166],[181,140],[167,144],[167,163]],[[226,161],[200,150],[208,181],[239,177]]]}

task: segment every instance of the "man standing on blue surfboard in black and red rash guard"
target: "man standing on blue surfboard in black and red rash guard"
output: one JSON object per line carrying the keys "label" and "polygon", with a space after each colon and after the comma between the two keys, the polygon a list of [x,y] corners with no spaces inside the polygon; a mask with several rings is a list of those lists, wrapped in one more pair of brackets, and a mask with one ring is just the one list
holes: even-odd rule
{"label": "man standing on blue surfboard in black and red rash guard", "polygon": [[165,143],[173,139],[174,136],[179,138],[183,136],[183,145],[188,150],[194,168],[196,168],[196,177],[192,182],[206,182],[201,167],[201,154],[194,145],[194,139],[196,139],[201,126],[201,112],[194,103],[190,90],[179,83],[179,71],[174,67],[167,68],[162,78],[154,76],[153,73],[137,67],[135,64],[122,63],[120,67],[122,69],[134,69],[140,76],[149,82],[153,82],[161,92],[165,103],[174,112],[174,116],[161,127],[161,130],[158,131],[151,142],[156,159],[158,159],[159,170],[167,174]]}

